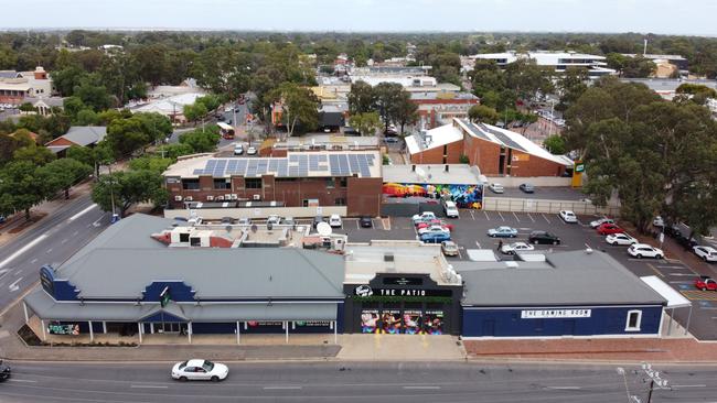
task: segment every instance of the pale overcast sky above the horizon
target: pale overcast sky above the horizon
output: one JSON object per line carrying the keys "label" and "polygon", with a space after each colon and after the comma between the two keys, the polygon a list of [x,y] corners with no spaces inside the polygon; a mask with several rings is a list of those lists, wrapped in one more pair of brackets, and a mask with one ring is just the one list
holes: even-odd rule
{"label": "pale overcast sky above the horizon", "polygon": [[717,35],[716,0],[33,0],[32,10],[0,26]]}

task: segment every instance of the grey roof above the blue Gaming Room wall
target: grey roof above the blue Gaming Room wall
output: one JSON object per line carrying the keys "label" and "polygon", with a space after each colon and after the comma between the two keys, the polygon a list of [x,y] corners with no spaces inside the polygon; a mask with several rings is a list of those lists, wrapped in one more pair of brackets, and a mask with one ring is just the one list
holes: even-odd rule
{"label": "grey roof above the blue Gaming Room wall", "polygon": [[554,306],[657,304],[666,301],[604,252],[570,251],[547,255],[546,265],[518,262],[495,269],[454,264],[465,282],[463,305]]}

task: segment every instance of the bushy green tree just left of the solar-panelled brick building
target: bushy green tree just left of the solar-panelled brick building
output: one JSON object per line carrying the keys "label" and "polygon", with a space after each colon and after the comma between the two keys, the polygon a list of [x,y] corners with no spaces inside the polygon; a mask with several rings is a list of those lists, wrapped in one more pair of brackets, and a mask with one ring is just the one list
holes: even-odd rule
{"label": "bushy green tree just left of the solar-panelled brick building", "polygon": [[140,170],[115,172],[111,175],[101,175],[93,187],[92,198],[105,211],[113,210],[113,196],[120,217],[138,203],[152,202],[161,205],[167,202],[169,194],[162,186],[163,178],[160,173]]}

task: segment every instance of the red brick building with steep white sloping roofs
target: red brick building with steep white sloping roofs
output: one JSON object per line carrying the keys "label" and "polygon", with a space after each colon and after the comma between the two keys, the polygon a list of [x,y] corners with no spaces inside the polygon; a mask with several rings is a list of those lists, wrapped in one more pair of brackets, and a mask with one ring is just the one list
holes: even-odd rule
{"label": "red brick building with steep white sloping roofs", "polygon": [[456,164],[464,155],[488,176],[560,176],[572,166],[520,133],[468,119],[406,138],[406,146],[414,164]]}

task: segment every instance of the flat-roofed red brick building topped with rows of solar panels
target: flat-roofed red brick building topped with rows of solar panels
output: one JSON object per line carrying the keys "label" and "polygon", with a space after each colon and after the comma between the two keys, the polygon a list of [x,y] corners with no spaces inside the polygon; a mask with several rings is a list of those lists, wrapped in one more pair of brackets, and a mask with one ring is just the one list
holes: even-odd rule
{"label": "flat-roofed red brick building topped with rows of solar panels", "polygon": [[[376,151],[289,152],[286,157],[197,156],[164,172],[170,205],[189,202],[279,202],[286,207],[346,206],[378,216],[382,160]],[[232,206],[234,204],[234,206]]]}

